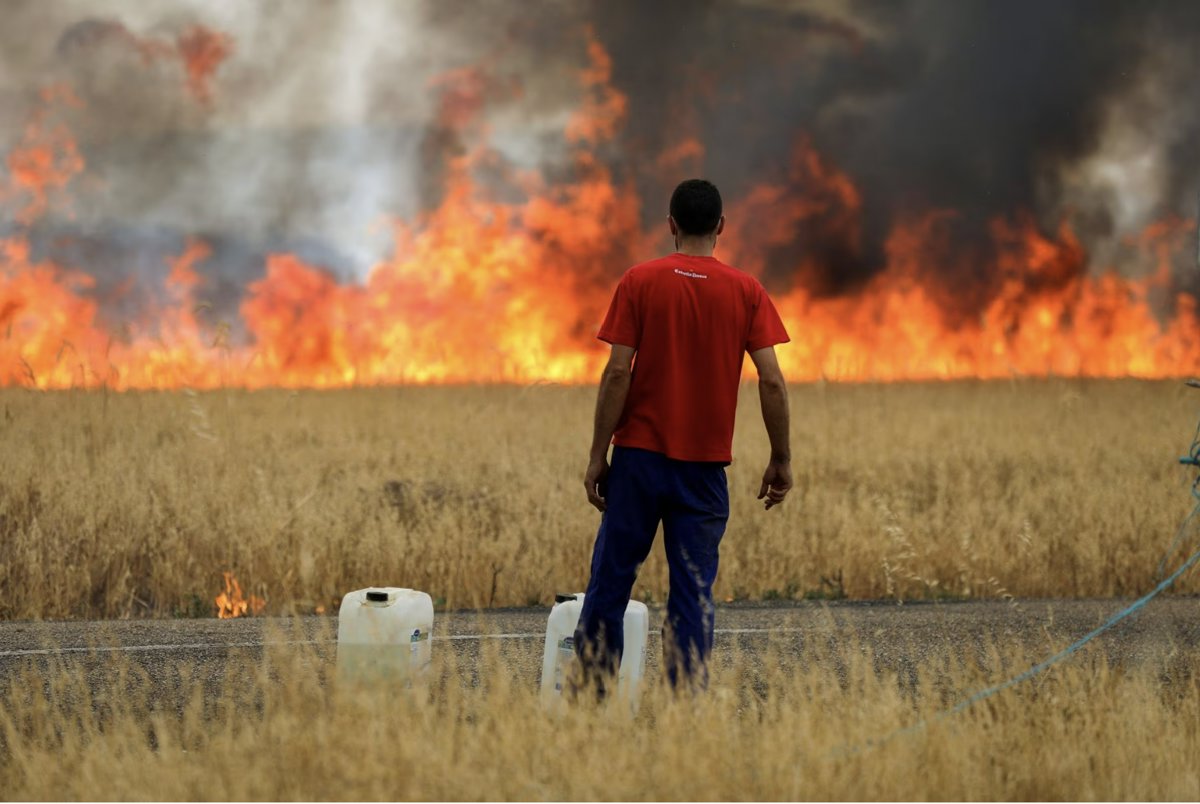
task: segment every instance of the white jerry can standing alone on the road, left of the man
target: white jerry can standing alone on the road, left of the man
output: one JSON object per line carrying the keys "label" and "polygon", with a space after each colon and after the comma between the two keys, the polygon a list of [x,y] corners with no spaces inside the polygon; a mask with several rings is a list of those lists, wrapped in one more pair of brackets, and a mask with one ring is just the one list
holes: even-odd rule
{"label": "white jerry can standing alone on the road, left of the man", "polygon": [[433,659],[433,600],[424,592],[372,587],[337,610],[337,672],[343,679],[412,682]]}

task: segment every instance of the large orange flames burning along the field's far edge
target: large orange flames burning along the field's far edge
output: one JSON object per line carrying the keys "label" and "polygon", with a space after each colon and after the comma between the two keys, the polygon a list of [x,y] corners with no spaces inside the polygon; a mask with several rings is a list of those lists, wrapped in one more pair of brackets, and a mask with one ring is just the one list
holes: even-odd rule
{"label": "large orange flames burning along the field's far edge", "polygon": [[[229,40],[193,31],[179,41],[192,91],[209,79]],[[240,308],[245,340],[198,302],[192,241],[167,266],[170,302],[149,322],[109,322],[89,295],[92,278],[35,262],[20,224],[64,194],[83,158],[54,110],[78,103],[48,90],[25,138],[7,158],[0,199],[22,204],[18,234],[0,240],[0,385],[40,389],[344,386],[377,383],[590,382],[604,360],[593,334],[619,270],[661,246],[641,229],[631,186],[593,157],[619,131],[625,97],[610,84],[604,48],[589,43],[583,103],[564,131],[575,179],[509,172],[521,200],[497,200],[474,179],[486,146],[448,156],[440,203],[395,227],[391,256],[361,283],[338,283],[294,254],[274,254]],[[456,71],[436,82],[439,125],[484,131],[486,82]],[[476,132],[478,133],[478,132]],[[464,152],[463,152],[464,151]],[[677,151],[677,152],[676,152]],[[703,157],[694,138],[658,164]],[[509,194],[511,197],[512,193]],[[812,226],[860,242],[862,199],[851,179],[800,139],[787,176],[730,205],[718,256],[756,275],[762,254]],[[780,348],[791,379],[954,377],[1165,377],[1200,372],[1200,318],[1190,295],[1168,296],[1170,266],[1190,221],[1150,227],[1133,246],[1157,260],[1145,278],[1088,271],[1084,244],[1063,222],[1046,234],[1014,215],[991,223],[986,264],[955,253],[952,210],[894,226],[886,266],[864,287],[810,289],[818,266],[794,265],[775,299],[792,343]],[[955,265],[946,271],[947,265]],[[935,270],[938,266],[941,270]],[[775,274],[778,274],[778,266]],[[947,275],[976,277],[948,287]],[[1156,310],[1166,308],[1165,316]],[[238,342],[233,342],[236,340]]]}

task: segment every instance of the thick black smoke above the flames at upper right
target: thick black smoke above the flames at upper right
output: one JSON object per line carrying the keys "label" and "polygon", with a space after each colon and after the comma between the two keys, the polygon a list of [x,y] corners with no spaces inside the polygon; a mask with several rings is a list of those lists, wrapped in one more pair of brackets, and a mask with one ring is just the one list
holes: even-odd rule
{"label": "thick black smoke above the flames at upper right", "polygon": [[[1026,211],[1052,230],[1069,214],[1102,252],[1130,234],[1123,228],[1195,214],[1200,4],[814,8],[680,0],[592,11],[631,97],[631,160],[694,132],[707,146],[704,172],[736,197],[784,173],[805,132],[862,190],[862,241],[802,227],[768,259],[776,282],[815,256],[826,274],[806,282],[851,290],[880,270],[898,216],[929,209],[956,211],[955,251],[977,265],[989,260],[996,216]],[[1092,163],[1106,157],[1157,164],[1150,176],[1097,181]],[[660,198],[665,190],[647,187]]]}

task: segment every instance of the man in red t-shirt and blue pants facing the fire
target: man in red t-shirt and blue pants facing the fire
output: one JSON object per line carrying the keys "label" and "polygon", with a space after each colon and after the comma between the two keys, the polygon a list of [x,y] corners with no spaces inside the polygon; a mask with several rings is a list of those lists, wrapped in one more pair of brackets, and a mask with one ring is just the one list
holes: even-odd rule
{"label": "man in red t-shirt and blue pants facing the fire", "polygon": [[676,187],[667,224],[676,253],[625,272],[598,334],[612,354],[583,485],[602,517],[575,644],[583,683],[600,696],[620,662],[625,606],[660,521],[671,572],[667,678],[676,688],[707,682],[713,581],[730,516],[725,467],[746,352],[770,439],[758,499],[774,508],[792,487],[787,386],[774,348],[788,337],[779,313],[757,280],[713,257],[725,229],[715,186],[690,179]]}

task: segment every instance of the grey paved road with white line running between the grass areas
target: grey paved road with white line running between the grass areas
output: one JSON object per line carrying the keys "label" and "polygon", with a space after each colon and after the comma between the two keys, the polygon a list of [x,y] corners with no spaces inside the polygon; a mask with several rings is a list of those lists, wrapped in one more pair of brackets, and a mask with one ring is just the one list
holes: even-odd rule
{"label": "grey paved road with white line running between the grass areas", "polygon": [[[1015,602],[796,602],[737,604],[718,611],[715,660],[743,653],[788,661],[809,640],[870,649],[877,666],[911,672],[931,654],[974,653],[986,660],[988,646],[1020,646],[1030,661],[1048,656],[1088,632],[1128,601],[1024,600]],[[434,650],[454,650],[472,672],[485,646],[500,649],[530,683],[541,670],[546,608],[458,611],[434,620]],[[656,672],[658,629],[662,611],[650,612],[648,672]],[[22,666],[83,664],[101,667],[114,655],[127,656],[151,677],[194,678],[214,683],[230,655],[260,654],[264,646],[311,646],[318,661],[331,661],[336,618],[250,618],[235,620],[110,620],[0,623],[0,688]],[[1200,652],[1200,599],[1165,598],[1099,637],[1097,647],[1118,664],[1140,662],[1169,652]],[[1006,650],[1008,653],[1008,650]],[[205,668],[211,672],[203,672]]]}

